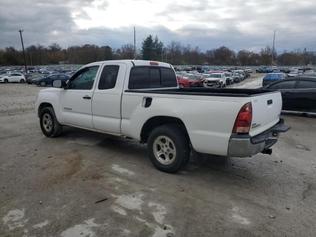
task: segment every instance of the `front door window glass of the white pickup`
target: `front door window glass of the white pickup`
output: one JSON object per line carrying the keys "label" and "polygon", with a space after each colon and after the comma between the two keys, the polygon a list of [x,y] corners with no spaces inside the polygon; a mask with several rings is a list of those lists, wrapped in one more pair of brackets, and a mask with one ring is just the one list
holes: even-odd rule
{"label": "front door window glass of the white pickup", "polygon": [[76,78],[70,81],[69,89],[74,90],[91,90],[96,74],[98,72],[99,66],[94,66],[86,68],[79,72]]}

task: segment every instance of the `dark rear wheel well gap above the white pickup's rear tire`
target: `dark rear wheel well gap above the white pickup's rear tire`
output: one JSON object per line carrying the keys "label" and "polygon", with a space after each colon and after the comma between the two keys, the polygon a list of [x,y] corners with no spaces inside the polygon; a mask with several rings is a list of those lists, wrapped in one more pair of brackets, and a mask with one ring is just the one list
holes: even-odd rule
{"label": "dark rear wheel well gap above the white pickup's rear tire", "polygon": [[142,127],[142,131],[140,133],[141,142],[146,143],[149,137],[149,134],[151,133],[152,130],[154,130],[158,126],[166,125],[166,124],[169,124],[169,125],[171,124],[178,127],[189,137],[187,128],[180,118],[169,117],[169,116],[156,116],[153,118],[149,118],[144,123]]}

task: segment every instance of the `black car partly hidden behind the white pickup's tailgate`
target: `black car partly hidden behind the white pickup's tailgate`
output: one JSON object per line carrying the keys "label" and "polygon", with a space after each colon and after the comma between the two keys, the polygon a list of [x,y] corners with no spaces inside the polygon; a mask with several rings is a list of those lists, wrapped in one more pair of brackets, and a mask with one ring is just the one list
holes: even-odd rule
{"label": "black car partly hidden behind the white pickup's tailgate", "polygon": [[261,88],[281,91],[282,110],[316,113],[316,78],[281,79]]}

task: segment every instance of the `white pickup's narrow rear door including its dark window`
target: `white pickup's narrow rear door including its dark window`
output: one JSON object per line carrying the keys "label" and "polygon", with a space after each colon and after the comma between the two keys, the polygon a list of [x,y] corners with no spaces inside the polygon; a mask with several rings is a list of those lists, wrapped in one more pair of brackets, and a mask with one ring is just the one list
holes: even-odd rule
{"label": "white pickup's narrow rear door including its dark window", "polygon": [[92,121],[96,130],[120,134],[121,98],[126,64],[106,63],[92,98]]}

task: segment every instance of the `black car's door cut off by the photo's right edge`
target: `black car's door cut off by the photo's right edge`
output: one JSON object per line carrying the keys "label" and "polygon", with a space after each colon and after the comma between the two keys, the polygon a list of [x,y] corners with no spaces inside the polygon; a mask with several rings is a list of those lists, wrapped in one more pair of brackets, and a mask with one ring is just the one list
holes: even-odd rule
{"label": "black car's door cut off by the photo's right edge", "polygon": [[316,113],[316,81],[300,79],[293,90],[293,111]]}

